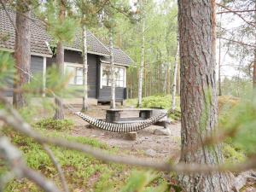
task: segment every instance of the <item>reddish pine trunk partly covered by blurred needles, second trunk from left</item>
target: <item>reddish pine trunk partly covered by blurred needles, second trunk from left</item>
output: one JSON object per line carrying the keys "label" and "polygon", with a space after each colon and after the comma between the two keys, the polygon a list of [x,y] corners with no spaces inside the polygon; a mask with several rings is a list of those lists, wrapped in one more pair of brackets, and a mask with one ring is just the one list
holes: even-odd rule
{"label": "reddish pine trunk partly covered by blurred needles, second trunk from left", "polygon": [[[61,2],[60,20],[65,19],[65,5]],[[56,65],[58,68],[59,76],[64,75],[64,48],[61,40],[57,44],[56,50]],[[61,96],[55,97],[55,116],[54,119],[64,119],[63,103]]]}

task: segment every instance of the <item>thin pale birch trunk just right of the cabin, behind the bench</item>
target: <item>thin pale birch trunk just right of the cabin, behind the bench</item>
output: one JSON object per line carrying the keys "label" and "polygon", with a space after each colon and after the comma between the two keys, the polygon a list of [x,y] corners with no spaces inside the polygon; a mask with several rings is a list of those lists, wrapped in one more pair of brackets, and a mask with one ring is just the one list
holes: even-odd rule
{"label": "thin pale birch trunk just right of the cabin, behind the bench", "polygon": [[145,19],[143,19],[143,42],[142,42],[142,55],[141,55],[141,65],[139,68],[139,81],[138,81],[138,93],[137,93],[137,107],[142,108],[143,102],[143,67],[145,58]]}

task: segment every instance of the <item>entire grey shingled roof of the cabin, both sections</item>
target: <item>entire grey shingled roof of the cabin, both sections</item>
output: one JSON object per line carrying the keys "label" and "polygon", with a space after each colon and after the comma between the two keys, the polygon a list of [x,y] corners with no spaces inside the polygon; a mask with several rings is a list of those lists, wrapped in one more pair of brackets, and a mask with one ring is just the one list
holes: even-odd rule
{"label": "entire grey shingled roof of the cabin, both sections", "polygon": [[[15,11],[8,9],[6,14],[4,9],[0,8],[0,49],[14,51],[15,49]],[[33,17],[31,21],[31,51],[32,55],[44,55],[47,57],[52,56],[52,52],[49,49],[49,44],[53,38],[49,36],[44,28],[44,24],[41,20]],[[66,44],[65,49],[72,49],[76,51],[82,51],[82,35],[78,32],[75,36],[72,44]],[[5,41],[1,38],[7,37]],[[109,48],[102,44],[102,42],[96,38],[94,34],[87,31],[87,49],[88,53],[102,55],[101,61],[109,63]],[[129,66],[132,62],[131,58],[125,54],[121,49],[113,49],[113,62],[117,65]]]}

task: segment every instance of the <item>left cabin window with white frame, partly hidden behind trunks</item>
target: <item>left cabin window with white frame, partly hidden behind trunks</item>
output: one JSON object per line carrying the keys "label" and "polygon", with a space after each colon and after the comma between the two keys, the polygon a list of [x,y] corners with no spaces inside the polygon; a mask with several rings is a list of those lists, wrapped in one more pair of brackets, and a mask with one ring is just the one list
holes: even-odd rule
{"label": "left cabin window with white frame, partly hidden behind trunks", "polygon": [[83,84],[83,67],[81,65],[66,64],[65,72],[72,74],[68,84]]}

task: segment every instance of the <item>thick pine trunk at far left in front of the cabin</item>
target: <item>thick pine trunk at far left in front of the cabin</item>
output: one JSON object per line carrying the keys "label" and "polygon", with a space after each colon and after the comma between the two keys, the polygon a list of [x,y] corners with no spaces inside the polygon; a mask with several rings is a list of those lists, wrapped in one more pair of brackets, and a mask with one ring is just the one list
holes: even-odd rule
{"label": "thick pine trunk at far left in front of the cabin", "polygon": [[[22,1],[17,1],[16,13],[16,36],[15,36],[15,61],[16,76],[14,79],[15,89],[22,88],[30,81],[31,63],[31,30],[29,18],[31,17],[30,8]],[[26,98],[22,92],[14,92],[13,104],[15,108],[26,106]]]}

